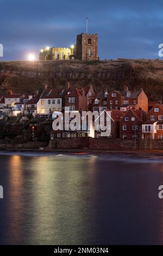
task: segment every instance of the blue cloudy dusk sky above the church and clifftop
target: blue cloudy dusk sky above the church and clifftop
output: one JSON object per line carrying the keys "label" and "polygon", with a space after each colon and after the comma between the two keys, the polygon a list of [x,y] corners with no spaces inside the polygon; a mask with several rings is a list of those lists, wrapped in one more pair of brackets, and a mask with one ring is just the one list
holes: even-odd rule
{"label": "blue cloudy dusk sky above the church and clifftop", "polygon": [[[100,59],[159,58],[163,43],[161,0],[0,0],[0,60],[39,57],[45,46],[70,47],[76,35],[98,33]],[[162,57],[163,59],[163,57]]]}

